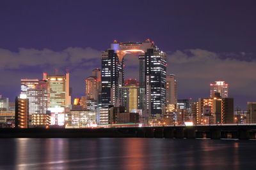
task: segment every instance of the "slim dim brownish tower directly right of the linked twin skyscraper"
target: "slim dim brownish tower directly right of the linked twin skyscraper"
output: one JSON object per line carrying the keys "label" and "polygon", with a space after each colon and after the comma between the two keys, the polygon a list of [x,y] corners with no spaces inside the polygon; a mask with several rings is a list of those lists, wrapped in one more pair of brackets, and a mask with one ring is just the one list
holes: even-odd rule
{"label": "slim dim brownish tower directly right of the linked twin skyscraper", "polygon": [[177,104],[177,81],[174,74],[166,76],[166,104]]}

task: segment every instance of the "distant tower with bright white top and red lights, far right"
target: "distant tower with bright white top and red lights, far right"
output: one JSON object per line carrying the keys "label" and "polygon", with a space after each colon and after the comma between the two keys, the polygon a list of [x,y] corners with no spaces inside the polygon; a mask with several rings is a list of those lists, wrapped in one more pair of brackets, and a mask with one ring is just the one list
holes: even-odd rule
{"label": "distant tower with bright white top and red lights, far right", "polygon": [[220,93],[221,97],[228,97],[228,84],[225,81],[215,81],[215,83],[210,84],[210,97],[214,96],[215,92]]}

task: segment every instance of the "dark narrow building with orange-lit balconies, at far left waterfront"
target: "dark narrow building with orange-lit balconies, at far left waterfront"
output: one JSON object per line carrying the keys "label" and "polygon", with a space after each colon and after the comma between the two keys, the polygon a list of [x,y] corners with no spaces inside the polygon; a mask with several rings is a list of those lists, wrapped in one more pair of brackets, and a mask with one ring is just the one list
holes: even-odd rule
{"label": "dark narrow building with orange-lit balconies, at far left waterfront", "polygon": [[15,128],[29,127],[28,99],[15,98]]}

